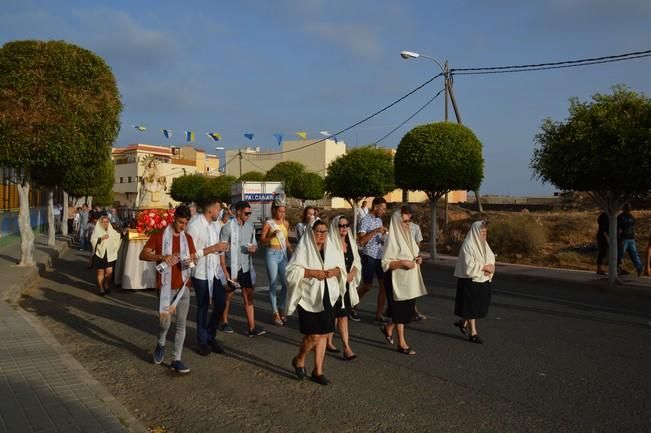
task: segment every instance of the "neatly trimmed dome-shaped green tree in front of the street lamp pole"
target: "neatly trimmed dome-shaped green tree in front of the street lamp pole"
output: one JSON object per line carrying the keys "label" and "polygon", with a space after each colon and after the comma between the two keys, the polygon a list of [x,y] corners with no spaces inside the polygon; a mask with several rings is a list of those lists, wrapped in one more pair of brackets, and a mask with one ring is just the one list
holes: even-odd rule
{"label": "neatly trimmed dome-shaped green tree in front of the street lamp pole", "polygon": [[417,126],[400,141],[394,164],[398,187],[424,191],[429,198],[431,253],[436,260],[436,203],[450,191],[479,188],[484,177],[481,142],[458,123]]}

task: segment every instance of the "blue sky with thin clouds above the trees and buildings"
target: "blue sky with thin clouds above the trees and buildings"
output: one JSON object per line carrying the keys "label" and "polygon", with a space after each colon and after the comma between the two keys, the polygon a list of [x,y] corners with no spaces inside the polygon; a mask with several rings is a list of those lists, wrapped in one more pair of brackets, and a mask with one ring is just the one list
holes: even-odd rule
{"label": "blue sky with thin clouds above the trees and buildings", "polygon": [[[166,145],[162,128],[183,144],[193,130],[195,146],[211,153],[206,132],[219,132],[227,149],[277,150],[275,133],[342,130],[439,72],[426,59],[401,59],[402,50],[464,68],[651,49],[649,0],[0,0],[0,8],[0,44],[62,39],[107,61],[124,104],[116,145]],[[463,123],[484,146],[482,194],[553,192],[529,168],[542,120],[562,121],[570,97],[615,84],[651,95],[650,68],[646,58],[456,76]],[[338,138],[349,148],[374,143],[442,88],[439,78]],[[442,121],[443,107],[440,97],[380,145],[395,148],[414,126]]]}

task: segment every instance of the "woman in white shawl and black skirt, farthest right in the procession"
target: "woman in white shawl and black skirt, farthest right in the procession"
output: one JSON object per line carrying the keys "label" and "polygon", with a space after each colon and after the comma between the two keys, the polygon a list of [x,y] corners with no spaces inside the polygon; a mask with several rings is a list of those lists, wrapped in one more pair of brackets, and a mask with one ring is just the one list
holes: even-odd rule
{"label": "woman in white shawl and black skirt, farthest right in the procession", "polygon": [[491,281],[495,274],[495,255],[486,242],[486,221],[476,221],[461,245],[454,276],[457,296],[454,314],[461,317],[454,326],[473,343],[483,340],[477,334],[476,319],[486,317],[491,299]]}

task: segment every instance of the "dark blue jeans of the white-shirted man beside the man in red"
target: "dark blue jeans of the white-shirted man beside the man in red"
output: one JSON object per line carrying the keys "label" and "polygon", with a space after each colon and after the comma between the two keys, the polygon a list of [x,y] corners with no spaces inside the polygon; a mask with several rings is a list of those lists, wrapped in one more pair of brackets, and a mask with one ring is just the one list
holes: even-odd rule
{"label": "dark blue jeans of the white-shirted man beside the man in red", "polygon": [[199,344],[209,344],[217,335],[217,325],[226,306],[226,291],[222,282],[215,277],[212,286],[213,308],[210,318],[208,318],[210,309],[208,280],[192,277],[192,286],[197,297],[197,340],[199,340]]}

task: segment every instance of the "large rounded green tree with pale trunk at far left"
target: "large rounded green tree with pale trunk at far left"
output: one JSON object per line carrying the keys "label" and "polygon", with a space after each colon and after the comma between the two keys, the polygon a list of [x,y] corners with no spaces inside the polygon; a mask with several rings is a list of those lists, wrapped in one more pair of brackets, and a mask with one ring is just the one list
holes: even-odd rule
{"label": "large rounded green tree with pale trunk at far left", "polygon": [[35,174],[57,176],[97,162],[120,129],[122,104],[102,58],[63,41],[14,41],[0,48],[0,165],[20,173],[21,265],[33,265],[29,189]]}

